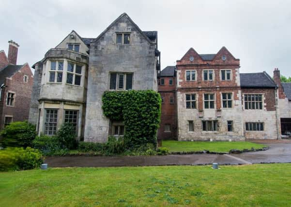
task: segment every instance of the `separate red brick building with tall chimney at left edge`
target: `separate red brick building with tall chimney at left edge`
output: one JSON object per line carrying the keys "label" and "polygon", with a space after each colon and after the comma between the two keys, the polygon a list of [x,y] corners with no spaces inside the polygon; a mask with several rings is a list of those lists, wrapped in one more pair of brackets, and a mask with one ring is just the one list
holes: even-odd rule
{"label": "separate red brick building with tall chimney at left edge", "polygon": [[28,120],[33,74],[29,64],[16,65],[19,45],[9,41],[8,57],[0,50],[0,129]]}

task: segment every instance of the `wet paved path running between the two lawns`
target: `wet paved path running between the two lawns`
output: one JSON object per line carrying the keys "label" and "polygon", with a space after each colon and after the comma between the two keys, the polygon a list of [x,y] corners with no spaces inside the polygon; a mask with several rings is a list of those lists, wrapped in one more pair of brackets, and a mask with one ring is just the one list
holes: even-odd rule
{"label": "wet paved path running between the two lawns", "polygon": [[[263,142],[260,142],[263,143]],[[167,155],[167,156],[66,156],[47,157],[50,167],[121,167],[121,166],[159,166],[159,165],[204,165],[218,162],[225,164],[252,164],[291,162],[291,142],[269,142],[269,150],[243,154],[215,155]]]}

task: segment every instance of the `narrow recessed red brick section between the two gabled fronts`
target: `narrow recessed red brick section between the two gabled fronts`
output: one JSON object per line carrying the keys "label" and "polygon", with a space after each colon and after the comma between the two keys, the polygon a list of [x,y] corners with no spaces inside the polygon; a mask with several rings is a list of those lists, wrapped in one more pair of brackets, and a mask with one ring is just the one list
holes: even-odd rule
{"label": "narrow recessed red brick section between the two gabled fronts", "polygon": [[160,73],[158,93],[162,98],[162,114],[158,139],[177,139],[176,67],[167,66]]}

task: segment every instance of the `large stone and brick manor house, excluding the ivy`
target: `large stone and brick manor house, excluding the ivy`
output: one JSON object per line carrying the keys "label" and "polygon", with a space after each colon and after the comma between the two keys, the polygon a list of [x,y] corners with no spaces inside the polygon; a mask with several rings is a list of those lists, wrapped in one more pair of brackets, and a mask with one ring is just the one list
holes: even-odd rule
{"label": "large stone and brick manor house, excluding the ivy", "polygon": [[279,70],[274,80],[240,73],[240,60],[223,47],[215,54],[190,48],[160,71],[157,40],[125,13],[96,38],[69,33],[33,65],[29,121],[38,134],[70,122],[86,142],[123,136],[123,123],[103,114],[103,93],[147,89],[162,98],[158,139],[280,139],[291,131],[291,85],[280,82]]}

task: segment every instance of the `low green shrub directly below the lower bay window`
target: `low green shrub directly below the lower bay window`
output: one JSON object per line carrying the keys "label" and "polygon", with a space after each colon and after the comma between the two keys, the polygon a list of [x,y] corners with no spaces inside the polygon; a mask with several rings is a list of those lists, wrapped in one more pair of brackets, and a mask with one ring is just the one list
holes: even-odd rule
{"label": "low green shrub directly below the lower bay window", "polygon": [[62,150],[61,142],[56,136],[36,136],[32,141],[33,147],[39,149],[43,155],[54,155]]}

